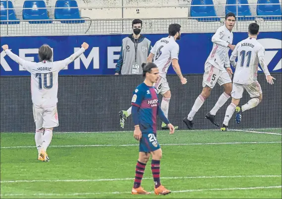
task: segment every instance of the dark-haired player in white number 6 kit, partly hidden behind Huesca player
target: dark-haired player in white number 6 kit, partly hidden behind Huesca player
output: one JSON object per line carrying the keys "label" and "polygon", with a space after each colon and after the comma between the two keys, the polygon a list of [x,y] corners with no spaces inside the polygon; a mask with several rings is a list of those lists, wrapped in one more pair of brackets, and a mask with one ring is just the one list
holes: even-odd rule
{"label": "dark-haired player in white number 6 kit, partly hidden behind Huesca player", "polygon": [[[151,53],[147,58],[147,62],[152,62],[154,58],[154,63],[158,66],[160,71],[159,80],[154,83],[154,87],[157,89],[157,93],[162,94],[163,99],[161,103],[161,108],[165,113],[165,116],[168,118],[169,114],[169,101],[171,98],[169,83],[167,82],[167,72],[172,62],[172,67],[178,77],[180,78],[181,84],[186,84],[187,80],[182,76],[180,66],[178,64],[178,53],[179,46],[176,43],[176,40],[180,40],[181,35],[181,26],[179,24],[170,24],[169,25],[169,36],[160,39],[155,46],[152,48]],[[124,126],[124,121],[129,114],[126,111],[120,112],[120,122],[121,126]],[[175,126],[175,129],[178,127]],[[168,126],[163,122],[162,129],[169,129]]]}

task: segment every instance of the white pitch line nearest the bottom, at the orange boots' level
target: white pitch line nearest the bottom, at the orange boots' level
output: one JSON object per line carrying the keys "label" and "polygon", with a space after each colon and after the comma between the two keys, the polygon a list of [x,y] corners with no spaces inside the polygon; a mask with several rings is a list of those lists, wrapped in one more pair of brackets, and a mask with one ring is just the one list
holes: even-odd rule
{"label": "white pitch line nearest the bottom, at the orange boots' level", "polygon": [[[236,187],[236,188],[216,188],[216,189],[195,189],[195,190],[180,190],[172,191],[173,193],[186,193],[186,192],[206,192],[206,191],[232,191],[232,190],[254,190],[254,189],[276,189],[282,188],[282,186],[270,186],[270,187]],[[150,192],[154,193],[154,192]],[[131,192],[94,192],[94,193],[70,193],[70,194],[1,194],[0,196],[85,196],[85,195],[113,195],[113,194],[131,194]]]}

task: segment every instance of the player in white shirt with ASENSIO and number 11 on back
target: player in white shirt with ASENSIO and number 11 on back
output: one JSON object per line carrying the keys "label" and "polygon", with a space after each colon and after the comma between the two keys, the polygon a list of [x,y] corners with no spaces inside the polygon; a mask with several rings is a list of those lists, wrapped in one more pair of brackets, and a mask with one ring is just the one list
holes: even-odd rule
{"label": "player in white shirt with ASENSIO and number 11 on back", "polygon": [[[236,110],[236,123],[241,122],[242,112],[256,107],[262,100],[261,86],[257,81],[258,64],[260,63],[266,80],[273,84],[274,77],[268,71],[265,63],[265,49],[257,41],[259,25],[251,23],[248,31],[249,37],[239,42],[230,56],[230,63],[235,67],[233,87],[231,92],[232,101],[226,109],[226,114],[221,128],[222,131],[229,131],[228,122]],[[237,63],[235,58],[238,57]],[[251,99],[241,107],[237,106],[242,98],[244,89],[249,93]],[[237,106],[237,107],[236,107]]]}

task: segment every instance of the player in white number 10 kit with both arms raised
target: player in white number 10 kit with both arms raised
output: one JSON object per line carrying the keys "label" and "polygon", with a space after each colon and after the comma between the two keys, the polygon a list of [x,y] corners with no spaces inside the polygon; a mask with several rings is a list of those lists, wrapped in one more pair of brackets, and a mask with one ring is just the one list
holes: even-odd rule
{"label": "player in white number 10 kit with both arms raised", "polygon": [[53,128],[59,125],[57,114],[58,72],[79,57],[89,45],[83,43],[81,49],[68,58],[53,62],[53,51],[48,45],[39,48],[39,61],[26,61],[8,50],[3,45],[5,53],[31,73],[31,95],[33,102],[33,116],[36,125],[35,144],[38,150],[38,159],[49,161],[46,153],[52,137]]}

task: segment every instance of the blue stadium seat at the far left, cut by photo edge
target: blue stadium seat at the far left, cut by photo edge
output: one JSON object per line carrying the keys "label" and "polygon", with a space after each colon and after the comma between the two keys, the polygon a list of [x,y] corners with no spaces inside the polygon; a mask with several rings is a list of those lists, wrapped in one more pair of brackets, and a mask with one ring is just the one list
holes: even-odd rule
{"label": "blue stadium seat at the far left, cut by photo edge", "polygon": [[[6,21],[2,20],[19,20],[16,18],[14,9],[8,10],[7,17],[7,1],[0,1],[0,24],[7,24]],[[8,1],[8,8],[14,8],[12,1]],[[19,21],[9,21],[8,24],[19,24]]]}

